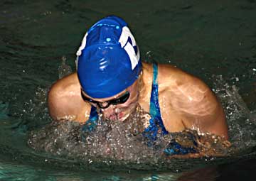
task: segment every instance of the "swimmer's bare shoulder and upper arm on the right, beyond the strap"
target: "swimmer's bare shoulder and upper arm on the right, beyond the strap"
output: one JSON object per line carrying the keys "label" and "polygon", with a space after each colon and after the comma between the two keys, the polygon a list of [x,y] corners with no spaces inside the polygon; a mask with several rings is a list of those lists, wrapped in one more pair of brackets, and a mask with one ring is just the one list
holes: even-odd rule
{"label": "swimmer's bare shoulder and upper arm on the right, beyond the strap", "polygon": [[228,138],[223,107],[198,77],[171,65],[159,65],[159,99],[170,104],[186,128],[200,124],[201,131]]}

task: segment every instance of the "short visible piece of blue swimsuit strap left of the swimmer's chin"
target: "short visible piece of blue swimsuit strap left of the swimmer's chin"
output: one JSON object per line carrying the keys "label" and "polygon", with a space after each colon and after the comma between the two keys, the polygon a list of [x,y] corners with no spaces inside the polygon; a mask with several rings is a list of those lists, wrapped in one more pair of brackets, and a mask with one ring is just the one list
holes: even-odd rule
{"label": "short visible piece of blue swimsuit strap left of the swimmer's chin", "polygon": [[97,108],[91,106],[90,117],[82,126],[82,131],[93,131],[97,126],[98,117]]}

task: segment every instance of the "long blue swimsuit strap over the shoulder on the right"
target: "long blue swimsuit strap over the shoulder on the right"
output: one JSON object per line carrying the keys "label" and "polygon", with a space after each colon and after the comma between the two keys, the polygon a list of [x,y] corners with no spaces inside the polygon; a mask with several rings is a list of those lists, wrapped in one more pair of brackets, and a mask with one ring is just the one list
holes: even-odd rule
{"label": "long blue swimsuit strap over the shoulder on the right", "polygon": [[163,120],[161,119],[161,111],[159,106],[159,94],[158,94],[158,83],[157,83],[157,75],[158,68],[157,64],[153,64],[153,82],[151,89],[151,97],[150,97],[150,109],[149,113],[151,115],[151,119],[149,120],[149,126],[144,130],[144,136],[149,138],[149,145],[151,145],[151,141],[156,141],[157,133],[159,132],[159,127],[161,128],[161,133],[163,135],[168,134],[164,127]]}

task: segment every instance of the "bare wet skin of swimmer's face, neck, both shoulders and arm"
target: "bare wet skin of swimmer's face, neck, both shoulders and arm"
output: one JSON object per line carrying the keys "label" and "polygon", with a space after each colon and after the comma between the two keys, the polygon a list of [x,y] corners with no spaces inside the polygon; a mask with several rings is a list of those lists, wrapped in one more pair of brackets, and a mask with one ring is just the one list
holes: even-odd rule
{"label": "bare wet skin of swimmer's face, neck, both shoulders and arm", "polygon": [[[167,131],[177,132],[192,128],[228,139],[228,126],[223,108],[205,83],[171,65],[159,65],[158,71],[159,105]],[[128,91],[130,97],[127,102],[102,109],[105,119],[124,121],[137,104],[149,112],[152,77],[152,65],[143,63],[140,78],[119,94],[105,99],[84,95],[104,104]],[[90,107],[90,103],[81,97],[77,73],[59,79],[48,94],[50,116],[55,120],[70,119],[84,124],[89,119]]]}

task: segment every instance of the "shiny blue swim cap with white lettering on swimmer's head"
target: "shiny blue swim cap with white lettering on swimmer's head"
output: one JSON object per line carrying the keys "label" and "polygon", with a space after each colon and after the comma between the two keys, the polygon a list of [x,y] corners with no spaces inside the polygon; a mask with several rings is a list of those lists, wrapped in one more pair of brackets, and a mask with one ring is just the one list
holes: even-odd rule
{"label": "shiny blue swim cap with white lettering on swimmer's head", "polygon": [[93,98],[112,97],[132,85],[142,70],[139,48],[127,23],[117,16],[97,21],[77,52],[78,79]]}

